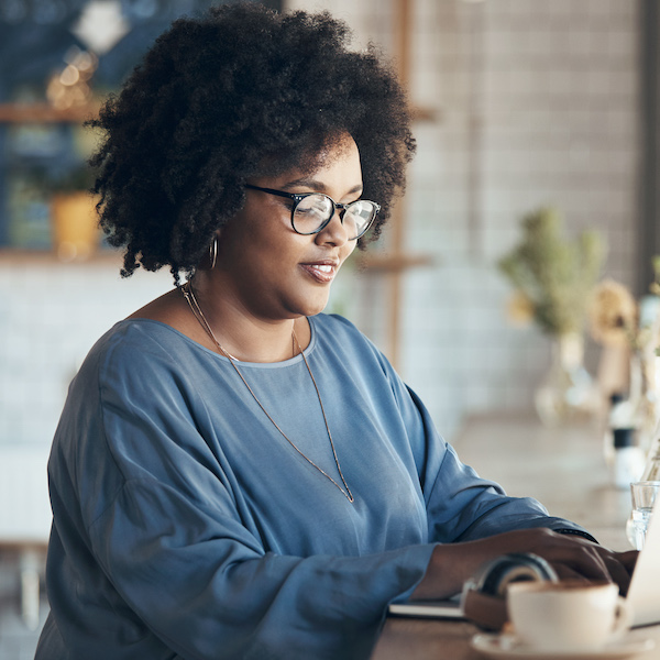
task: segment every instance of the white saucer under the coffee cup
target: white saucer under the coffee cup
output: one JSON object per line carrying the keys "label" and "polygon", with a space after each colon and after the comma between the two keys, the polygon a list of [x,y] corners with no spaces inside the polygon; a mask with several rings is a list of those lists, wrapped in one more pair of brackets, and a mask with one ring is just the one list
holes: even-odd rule
{"label": "white saucer under the coffee cup", "polygon": [[486,658],[505,660],[615,660],[650,651],[652,639],[618,639],[593,649],[544,651],[516,641],[512,635],[475,635],[472,648]]}

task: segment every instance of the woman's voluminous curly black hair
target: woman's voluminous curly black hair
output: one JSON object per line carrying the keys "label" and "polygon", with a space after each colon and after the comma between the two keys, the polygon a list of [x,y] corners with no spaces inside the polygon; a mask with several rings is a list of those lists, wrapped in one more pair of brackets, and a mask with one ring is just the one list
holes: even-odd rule
{"label": "woman's voluminous curly black hair", "polygon": [[314,172],[346,132],[364,197],[383,208],[371,239],[380,234],[415,140],[389,65],[349,42],[327,12],[279,14],[255,2],[178,19],[156,40],[88,122],[103,131],[94,190],[108,242],[125,246],[124,277],[169,265],[178,284],[242,208],[246,179]]}

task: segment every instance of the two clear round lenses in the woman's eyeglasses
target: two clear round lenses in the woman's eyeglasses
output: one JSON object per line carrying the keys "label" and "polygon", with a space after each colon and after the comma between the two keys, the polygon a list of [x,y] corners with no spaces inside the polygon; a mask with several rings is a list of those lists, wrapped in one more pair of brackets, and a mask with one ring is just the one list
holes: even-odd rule
{"label": "two clear round lenses in the woman's eyeglasses", "polygon": [[[349,240],[362,235],[376,215],[376,207],[372,201],[359,199],[342,209],[343,226],[349,234]],[[315,194],[302,198],[293,216],[294,229],[301,234],[311,234],[320,228],[334,213],[334,205],[326,195]]]}

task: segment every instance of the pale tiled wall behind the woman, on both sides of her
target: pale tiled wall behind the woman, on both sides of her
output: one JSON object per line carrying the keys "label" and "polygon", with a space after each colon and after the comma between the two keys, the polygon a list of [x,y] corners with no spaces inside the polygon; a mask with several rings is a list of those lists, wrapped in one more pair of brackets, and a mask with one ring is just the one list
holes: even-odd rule
{"label": "pale tiled wall behind the woman, on both sides of her", "polygon": [[[327,7],[360,40],[389,47],[391,2],[289,4]],[[516,242],[521,215],[553,204],[570,232],[600,228],[610,245],[607,273],[635,280],[637,2],[411,4],[411,97],[438,120],[416,127],[406,248],[430,253],[435,265],[405,277],[402,372],[451,439],[464,413],[530,406],[546,369],[546,339],[507,324],[508,287],[494,267]],[[47,443],[95,339],[170,286],[167,273],[124,282],[117,271],[106,261],[0,263],[0,443]],[[336,284],[334,308],[382,341],[383,283],[348,271]],[[11,575],[0,570],[0,608],[14,612]],[[19,650],[8,651],[2,630],[0,659],[29,657],[32,638],[14,635]]]}

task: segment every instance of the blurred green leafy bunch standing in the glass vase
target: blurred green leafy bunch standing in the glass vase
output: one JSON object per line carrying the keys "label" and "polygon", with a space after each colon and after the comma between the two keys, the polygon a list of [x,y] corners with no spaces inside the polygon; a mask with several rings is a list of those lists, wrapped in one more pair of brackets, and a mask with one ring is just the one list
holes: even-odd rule
{"label": "blurred green leafy bunch standing in the glass vase", "polygon": [[518,322],[531,318],[552,336],[583,331],[605,257],[597,232],[585,231],[570,241],[562,230],[556,209],[529,213],[522,219],[522,241],[498,262],[515,287],[512,318]]}

